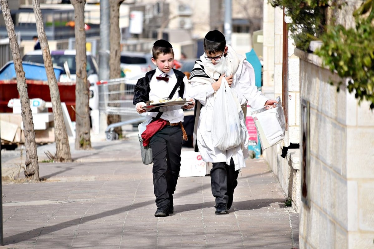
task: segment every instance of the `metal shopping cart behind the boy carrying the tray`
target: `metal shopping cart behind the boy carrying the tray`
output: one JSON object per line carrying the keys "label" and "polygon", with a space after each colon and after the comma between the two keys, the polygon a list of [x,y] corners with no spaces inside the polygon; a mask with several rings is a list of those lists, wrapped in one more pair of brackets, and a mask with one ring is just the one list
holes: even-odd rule
{"label": "metal shopping cart behind the boy carrying the tray", "polygon": [[99,111],[106,114],[120,115],[122,122],[109,124],[105,130],[107,141],[119,138],[115,127],[126,124],[141,123],[145,120],[145,114],[138,114],[132,104],[134,98],[134,88],[138,78],[119,78],[112,80],[101,80],[99,87]]}

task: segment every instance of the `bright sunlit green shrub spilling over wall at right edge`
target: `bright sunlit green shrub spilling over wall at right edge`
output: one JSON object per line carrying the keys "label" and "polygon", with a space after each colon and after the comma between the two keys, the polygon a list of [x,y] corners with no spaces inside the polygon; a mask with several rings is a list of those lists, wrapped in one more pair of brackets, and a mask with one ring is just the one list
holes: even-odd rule
{"label": "bright sunlit green shrub spilling over wall at right edge", "polygon": [[355,28],[346,29],[342,25],[328,27],[321,36],[323,45],[316,51],[331,72],[349,79],[348,91],[355,93],[359,103],[364,99],[371,102],[371,109],[374,108],[373,5],[374,1],[368,0],[354,13]]}

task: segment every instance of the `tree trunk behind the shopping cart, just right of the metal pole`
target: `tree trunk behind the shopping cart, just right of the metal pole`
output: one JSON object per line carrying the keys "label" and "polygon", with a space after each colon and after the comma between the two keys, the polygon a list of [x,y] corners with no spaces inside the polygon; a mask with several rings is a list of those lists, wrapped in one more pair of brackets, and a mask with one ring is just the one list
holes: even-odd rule
{"label": "tree trunk behind the shopping cart, just right of the metal pole", "polygon": [[[119,6],[124,0],[109,0],[110,7],[110,57],[109,57],[109,77],[110,79],[118,79],[121,77],[121,31],[119,28]],[[110,91],[120,91],[120,85],[111,86]],[[123,89],[125,90],[125,89]],[[118,100],[115,95],[112,95],[110,100]],[[118,105],[119,106],[119,105]],[[119,115],[108,115],[107,123],[113,124],[121,122],[121,117]],[[116,127],[114,129],[120,136],[122,135],[121,127]]]}

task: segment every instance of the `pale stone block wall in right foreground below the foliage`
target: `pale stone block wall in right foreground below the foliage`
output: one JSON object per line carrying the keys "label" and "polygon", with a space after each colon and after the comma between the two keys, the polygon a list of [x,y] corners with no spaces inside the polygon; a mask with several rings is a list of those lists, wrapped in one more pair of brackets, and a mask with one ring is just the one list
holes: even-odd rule
{"label": "pale stone block wall in right foreground below the foliage", "polygon": [[[300,98],[310,102],[309,206],[301,204],[300,248],[373,248],[374,113],[358,105],[316,55],[300,57]],[[303,172],[301,173],[301,175]]]}

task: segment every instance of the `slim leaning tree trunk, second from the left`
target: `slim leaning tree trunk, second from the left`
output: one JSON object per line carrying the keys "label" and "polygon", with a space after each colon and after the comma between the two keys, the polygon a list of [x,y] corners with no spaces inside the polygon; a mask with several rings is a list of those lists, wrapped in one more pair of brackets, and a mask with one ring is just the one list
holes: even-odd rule
{"label": "slim leaning tree trunk, second from the left", "polygon": [[69,139],[64,122],[64,116],[62,114],[60,92],[58,90],[55,71],[53,70],[52,58],[50,56],[47,36],[44,30],[39,0],[33,0],[33,9],[35,13],[36,30],[38,32],[40,47],[43,53],[44,66],[46,68],[49,94],[52,102],[53,117],[55,122],[55,162],[71,162]]}

